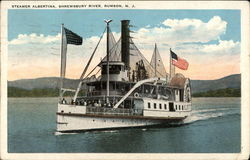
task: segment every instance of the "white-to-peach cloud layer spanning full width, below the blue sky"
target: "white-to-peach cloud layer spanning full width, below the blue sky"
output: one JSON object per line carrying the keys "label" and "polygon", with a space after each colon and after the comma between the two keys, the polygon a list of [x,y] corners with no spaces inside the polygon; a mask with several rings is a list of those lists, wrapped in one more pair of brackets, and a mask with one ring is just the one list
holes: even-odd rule
{"label": "white-to-peach cloud layer spanning full width, below the blue sky", "polygon": [[[225,34],[226,27],[227,22],[219,16],[212,17],[208,22],[199,19],[166,19],[157,27],[148,25],[131,33],[131,36],[135,37],[133,41],[148,60],[157,42],[167,70],[171,47],[178,56],[190,63],[188,71],[177,69],[178,72],[192,79],[215,79],[240,72],[240,42],[220,38]],[[120,33],[113,34],[118,40]],[[11,40],[8,79],[59,76],[60,37],[60,34],[45,36],[33,33],[20,34]],[[83,38],[81,46],[68,45],[67,77],[79,78],[99,38]],[[105,55],[106,38],[103,38],[90,68],[94,68]]]}

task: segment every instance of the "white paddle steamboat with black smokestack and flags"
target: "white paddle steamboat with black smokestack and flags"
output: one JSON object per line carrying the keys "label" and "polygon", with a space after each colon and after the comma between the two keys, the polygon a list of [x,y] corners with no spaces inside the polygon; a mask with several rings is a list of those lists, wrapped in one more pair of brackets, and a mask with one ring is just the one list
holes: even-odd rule
{"label": "white paddle steamboat with black smokestack and flags", "polygon": [[[182,123],[191,112],[191,85],[189,78],[175,74],[175,67],[186,70],[188,63],[170,49],[167,73],[156,44],[149,62],[130,36],[130,21],[121,21],[118,41],[111,32],[111,21],[105,21],[105,30],[74,89],[64,86],[66,47],[81,45],[82,38],[62,25],[57,132]],[[86,74],[104,33],[105,57]],[[98,73],[93,74],[95,69]],[[66,92],[73,96],[67,97]]]}

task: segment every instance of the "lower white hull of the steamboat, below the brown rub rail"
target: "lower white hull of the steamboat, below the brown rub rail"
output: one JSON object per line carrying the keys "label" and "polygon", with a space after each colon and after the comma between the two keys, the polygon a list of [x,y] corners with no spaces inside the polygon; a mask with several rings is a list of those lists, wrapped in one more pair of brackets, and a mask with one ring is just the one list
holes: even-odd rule
{"label": "lower white hull of the steamboat, below the brown rub rail", "polygon": [[153,119],[133,119],[133,118],[109,118],[109,117],[88,117],[74,115],[58,115],[58,132],[74,132],[98,129],[127,128],[151,126],[157,124],[177,123],[176,120],[153,120]]}

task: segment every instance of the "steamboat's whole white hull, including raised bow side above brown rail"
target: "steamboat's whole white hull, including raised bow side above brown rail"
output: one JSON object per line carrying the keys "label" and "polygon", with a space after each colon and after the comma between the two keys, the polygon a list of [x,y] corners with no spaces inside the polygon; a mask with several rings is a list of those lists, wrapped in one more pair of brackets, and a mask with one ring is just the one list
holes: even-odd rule
{"label": "steamboat's whole white hull, including raised bow side above brown rail", "polygon": [[[60,112],[62,111],[63,112]],[[86,114],[85,106],[58,105],[57,131],[76,132],[112,128],[141,127],[158,124],[181,123],[190,112],[162,112],[162,116],[149,116],[152,110],[144,110],[148,116],[96,115]],[[159,111],[156,111],[158,114]],[[160,115],[161,115],[160,114]],[[164,117],[163,117],[164,115]]]}

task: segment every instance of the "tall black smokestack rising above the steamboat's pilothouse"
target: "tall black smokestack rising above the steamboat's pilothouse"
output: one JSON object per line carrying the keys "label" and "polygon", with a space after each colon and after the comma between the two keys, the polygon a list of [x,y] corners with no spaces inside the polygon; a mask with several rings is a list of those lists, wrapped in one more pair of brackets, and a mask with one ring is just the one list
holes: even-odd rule
{"label": "tall black smokestack rising above the steamboat's pilothouse", "polygon": [[121,42],[122,42],[122,47],[121,47],[121,54],[122,54],[122,62],[125,64],[125,68],[129,69],[129,20],[122,20],[122,36],[121,36]]}

